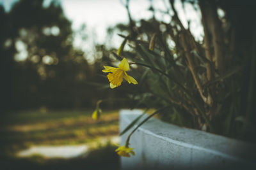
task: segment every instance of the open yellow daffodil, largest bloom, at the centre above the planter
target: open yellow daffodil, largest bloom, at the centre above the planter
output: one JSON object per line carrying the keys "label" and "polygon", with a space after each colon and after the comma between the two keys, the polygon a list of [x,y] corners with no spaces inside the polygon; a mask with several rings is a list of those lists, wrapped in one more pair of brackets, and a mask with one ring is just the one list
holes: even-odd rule
{"label": "open yellow daffodil, largest bloom, at the centre above the planter", "polygon": [[123,59],[119,66],[116,67],[110,67],[110,66],[104,66],[104,70],[102,70],[104,73],[108,74],[108,80],[110,82],[110,88],[114,89],[115,87],[118,87],[121,85],[123,78],[128,81],[128,83],[133,83],[134,85],[138,84],[138,82],[132,78],[131,76],[128,76],[126,71],[130,69],[129,63],[127,59]]}

